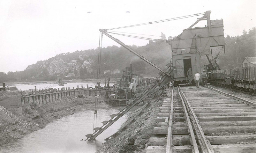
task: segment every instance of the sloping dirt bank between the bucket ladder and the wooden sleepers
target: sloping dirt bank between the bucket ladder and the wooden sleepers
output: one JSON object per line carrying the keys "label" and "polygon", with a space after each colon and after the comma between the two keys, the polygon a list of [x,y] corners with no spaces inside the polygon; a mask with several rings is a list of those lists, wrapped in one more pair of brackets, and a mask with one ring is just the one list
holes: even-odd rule
{"label": "sloping dirt bank between the bucket ladder and the wooden sleepers", "polygon": [[[160,97],[154,100],[149,100],[150,106],[143,110],[143,114],[137,116],[143,109],[143,106],[128,118],[122,125],[127,125],[135,118],[134,122],[128,124],[126,128],[120,130],[115,138],[104,142],[101,148],[98,148],[96,153],[141,153],[146,152],[146,146],[149,142],[149,137],[153,135],[154,126],[156,124],[157,114],[160,112],[164,97],[167,97],[167,92],[163,92]],[[137,116],[137,117],[136,117]],[[121,128],[122,128],[121,127]],[[120,128],[120,129],[121,129]]]}

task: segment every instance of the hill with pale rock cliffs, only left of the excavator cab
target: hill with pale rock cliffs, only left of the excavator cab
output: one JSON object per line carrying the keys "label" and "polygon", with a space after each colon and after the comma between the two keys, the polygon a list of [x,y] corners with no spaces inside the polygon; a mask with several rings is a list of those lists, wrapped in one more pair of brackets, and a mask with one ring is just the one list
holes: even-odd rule
{"label": "hill with pale rock cliffs, only left of the excavator cab", "polygon": [[[153,42],[146,46],[130,46],[143,57],[165,69],[170,61],[170,46],[165,42]],[[74,73],[76,78],[95,78],[97,74],[98,48],[73,53],[62,53],[45,61],[28,66],[24,71],[14,72],[14,79],[21,80],[56,80]],[[122,71],[133,65],[133,72],[141,74],[158,73],[158,70],[147,64],[124,47],[111,46],[102,48],[101,75],[104,70]],[[9,75],[9,74],[8,74]]]}

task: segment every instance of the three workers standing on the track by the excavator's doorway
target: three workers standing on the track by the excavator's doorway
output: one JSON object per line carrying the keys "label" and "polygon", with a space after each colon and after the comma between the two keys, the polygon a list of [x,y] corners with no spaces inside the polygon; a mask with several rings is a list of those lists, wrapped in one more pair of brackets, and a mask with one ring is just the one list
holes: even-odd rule
{"label": "three workers standing on the track by the excavator's doorway", "polygon": [[[199,83],[200,83],[200,79],[202,77],[202,85],[207,85],[207,74],[205,73],[206,71],[203,70],[203,73],[200,75],[199,72],[196,72],[195,76],[194,76],[194,82],[196,83],[196,88],[199,88]],[[189,68],[189,70],[187,71],[187,76],[188,76],[188,82],[189,84],[192,84],[192,71],[191,68]]]}

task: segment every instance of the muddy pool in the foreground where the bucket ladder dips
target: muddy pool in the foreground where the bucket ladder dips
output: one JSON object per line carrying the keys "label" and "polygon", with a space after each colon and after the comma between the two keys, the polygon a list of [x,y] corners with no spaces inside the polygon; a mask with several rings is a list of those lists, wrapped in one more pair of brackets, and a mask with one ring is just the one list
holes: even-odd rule
{"label": "muddy pool in the foreground where the bucket ladder dips", "polygon": [[[109,120],[111,114],[118,113],[118,107],[98,110],[97,127]],[[0,146],[2,153],[94,153],[105,138],[114,134],[127,120],[129,113],[106,129],[95,141],[80,141],[93,132],[94,110],[84,110],[71,116],[49,123],[45,128],[24,138]]]}

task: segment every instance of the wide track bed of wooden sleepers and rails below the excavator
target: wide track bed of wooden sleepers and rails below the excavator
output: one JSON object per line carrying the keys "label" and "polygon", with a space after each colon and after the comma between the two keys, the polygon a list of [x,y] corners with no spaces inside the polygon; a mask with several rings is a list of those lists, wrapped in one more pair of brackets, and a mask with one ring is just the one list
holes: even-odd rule
{"label": "wide track bed of wooden sleepers and rails below the excavator", "polygon": [[255,106],[211,87],[169,88],[146,152],[255,153]]}

